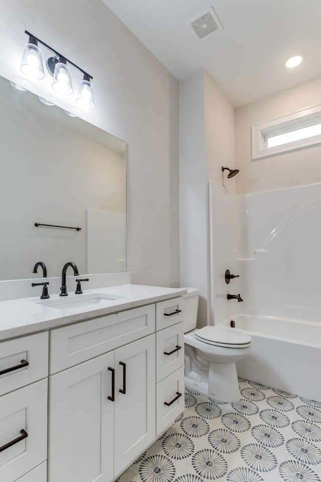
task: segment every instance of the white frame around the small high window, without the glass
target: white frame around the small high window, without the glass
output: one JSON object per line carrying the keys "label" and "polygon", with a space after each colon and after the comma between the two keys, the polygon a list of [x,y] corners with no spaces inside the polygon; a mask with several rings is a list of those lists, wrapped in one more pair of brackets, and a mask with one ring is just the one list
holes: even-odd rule
{"label": "white frame around the small high window, without the glass", "polygon": [[251,128],[252,160],[321,144],[321,134],[270,148],[267,147],[266,142],[267,137],[277,136],[278,134],[284,134],[319,123],[321,123],[321,104],[255,124]]}

